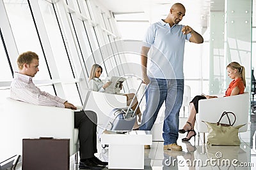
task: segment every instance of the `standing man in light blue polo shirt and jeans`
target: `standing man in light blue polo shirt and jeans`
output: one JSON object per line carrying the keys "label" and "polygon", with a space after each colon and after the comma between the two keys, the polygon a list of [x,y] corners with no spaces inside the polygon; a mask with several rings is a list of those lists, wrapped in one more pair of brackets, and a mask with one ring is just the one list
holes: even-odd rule
{"label": "standing man in light blue polo shirt and jeans", "polygon": [[152,129],[159,109],[165,101],[164,150],[182,150],[182,147],[177,145],[177,139],[179,110],[184,92],[185,40],[198,44],[204,42],[204,38],[191,27],[179,25],[185,12],[182,4],[173,4],[166,19],[150,25],[141,48],[142,76],[148,88],[140,130]]}

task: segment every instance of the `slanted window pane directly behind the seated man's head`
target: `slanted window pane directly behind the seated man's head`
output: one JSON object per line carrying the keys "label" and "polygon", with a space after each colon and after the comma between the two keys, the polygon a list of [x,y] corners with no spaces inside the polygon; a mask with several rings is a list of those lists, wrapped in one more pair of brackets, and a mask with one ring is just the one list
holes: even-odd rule
{"label": "slanted window pane directly behind the seated man's head", "polygon": [[[36,74],[35,79],[49,79],[49,71],[40,46],[38,34],[36,33],[28,1],[16,0],[10,2],[4,0],[4,6],[19,53],[33,51],[39,55],[40,71]],[[12,65],[16,66],[16,63],[12,63]]]}

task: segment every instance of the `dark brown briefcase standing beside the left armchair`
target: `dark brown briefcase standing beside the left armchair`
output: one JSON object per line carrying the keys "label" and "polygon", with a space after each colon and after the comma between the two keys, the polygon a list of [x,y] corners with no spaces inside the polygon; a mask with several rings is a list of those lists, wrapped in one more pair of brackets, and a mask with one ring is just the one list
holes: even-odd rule
{"label": "dark brown briefcase standing beside the left armchair", "polygon": [[22,140],[22,170],[69,170],[69,139]]}

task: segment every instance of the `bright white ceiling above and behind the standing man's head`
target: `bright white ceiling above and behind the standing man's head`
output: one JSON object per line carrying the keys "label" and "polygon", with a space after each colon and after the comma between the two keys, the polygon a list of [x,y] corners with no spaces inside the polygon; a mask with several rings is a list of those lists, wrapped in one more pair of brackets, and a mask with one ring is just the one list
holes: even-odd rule
{"label": "bright white ceiling above and behind the standing man's head", "polygon": [[[186,16],[180,24],[200,28],[202,32],[207,28],[210,10],[225,10],[224,0],[100,0],[99,2],[114,15],[144,13],[150,24],[165,18],[172,4],[179,2],[186,8]],[[133,17],[131,20],[137,20],[137,18]]]}

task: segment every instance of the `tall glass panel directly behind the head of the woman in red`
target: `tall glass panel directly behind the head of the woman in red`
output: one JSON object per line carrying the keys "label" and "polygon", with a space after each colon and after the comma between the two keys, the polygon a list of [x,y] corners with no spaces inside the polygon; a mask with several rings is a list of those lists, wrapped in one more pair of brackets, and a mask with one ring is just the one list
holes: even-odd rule
{"label": "tall glass panel directly behind the head of the woman in red", "polygon": [[[227,46],[230,45],[231,41],[237,43],[232,49],[226,48],[227,62],[239,62],[246,70],[246,78],[250,79],[252,66],[252,1],[227,1],[226,4],[225,38],[227,39]],[[234,12],[237,8],[239,8],[239,11]],[[248,12],[244,13],[244,11]],[[239,41],[243,41],[243,46],[246,46],[246,48],[242,49]],[[226,87],[229,83],[230,78],[227,76]],[[246,89],[250,89],[250,83],[246,83]]]}

